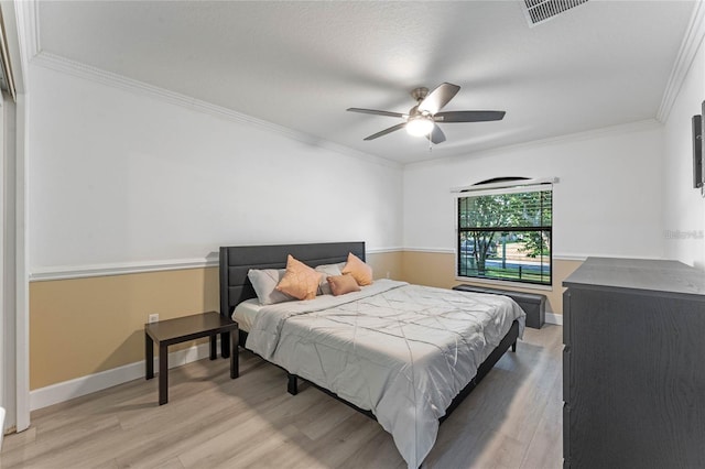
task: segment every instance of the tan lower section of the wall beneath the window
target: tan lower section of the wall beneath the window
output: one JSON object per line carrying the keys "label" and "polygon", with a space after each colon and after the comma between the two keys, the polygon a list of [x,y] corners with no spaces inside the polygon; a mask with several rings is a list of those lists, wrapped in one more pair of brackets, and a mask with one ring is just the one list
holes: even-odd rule
{"label": "tan lower section of the wall beneath the window", "polygon": [[514,290],[517,292],[542,293],[546,295],[546,310],[563,314],[563,280],[573,273],[583,262],[568,260],[553,260],[553,286],[551,291],[523,288],[519,286],[491,285],[480,282],[460,282],[455,277],[455,254],[441,252],[404,251],[402,261],[402,276],[409,283],[419,285],[451,288],[460,283]]}

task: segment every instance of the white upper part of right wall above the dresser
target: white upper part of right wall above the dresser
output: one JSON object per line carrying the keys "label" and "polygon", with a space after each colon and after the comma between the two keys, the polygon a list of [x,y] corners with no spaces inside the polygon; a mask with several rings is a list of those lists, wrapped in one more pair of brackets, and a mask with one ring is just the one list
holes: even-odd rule
{"label": "white upper part of right wall above the dresser", "polygon": [[693,116],[705,100],[705,46],[699,44],[665,122],[663,225],[665,254],[705,269],[705,199],[693,188]]}

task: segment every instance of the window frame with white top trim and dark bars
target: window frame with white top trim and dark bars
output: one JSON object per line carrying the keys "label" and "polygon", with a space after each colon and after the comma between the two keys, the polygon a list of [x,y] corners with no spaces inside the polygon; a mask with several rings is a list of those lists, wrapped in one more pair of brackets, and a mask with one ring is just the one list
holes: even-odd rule
{"label": "window frame with white top trim and dark bars", "polygon": [[[503,184],[487,184],[484,186],[482,183],[478,183],[475,186],[462,187],[457,189],[453,189],[454,193],[454,211],[455,211],[455,242],[454,242],[454,259],[455,259],[455,279],[459,281],[467,282],[478,282],[478,283],[488,283],[488,284],[498,284],[498,285],[513,285],[521,286],[524,288],[536,288],[536,290],[553,290],[553,269],[554,269],[554,255],[553,255],[553,201],[554,201],[554,190],[553,183],[557,182],[557,179],[524,179],[524,181],[513,181],[506,182]],[[530,192],[551,192],[551,226],[540,226],[540,227],[501,227],[507,228],[506,230],[497,229],[497,228],[479,228],[478,229],[463,229],[460,228],[460,199],[467,197],[479,197],[486,195],[505,195],[505,194],[521,194],[521,193],[530,193]],[[520,279],[496,279],[491,276],[467,276],[460,274],[460,252],[462,252],[462,233],[470,232],[470,231],[494,231],[494,232],[502,232],[502,231],[549,231],[550,232],[550,241],[549,241],[549,280],[546,282],[541,281],[527,281]]]}

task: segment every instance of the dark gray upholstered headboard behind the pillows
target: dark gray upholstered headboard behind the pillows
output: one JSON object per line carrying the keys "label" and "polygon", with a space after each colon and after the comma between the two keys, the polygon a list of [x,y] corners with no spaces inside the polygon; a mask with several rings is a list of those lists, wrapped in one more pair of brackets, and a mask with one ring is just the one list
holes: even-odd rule
{"label": "dark gray upholstered headboard behind the pillows", "polygon": [[349,252],[365,261],[365,242],[221,247],[220,314],[230,317],[235,306],[257,296],[247,277],[250,269],[284,269],[288,254],[315,268],[344,262]]}

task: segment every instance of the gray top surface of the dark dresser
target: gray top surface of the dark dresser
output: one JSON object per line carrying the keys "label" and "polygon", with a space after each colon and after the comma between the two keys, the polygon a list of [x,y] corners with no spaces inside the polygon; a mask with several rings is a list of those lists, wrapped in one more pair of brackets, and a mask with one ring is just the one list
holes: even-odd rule
{"label": "gray top surface of the dark dresser", "polygon": [[588,258],[563,286],[703,295],[705,272],[677,261]]}

